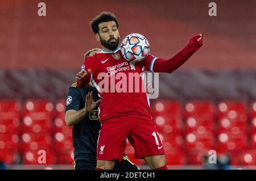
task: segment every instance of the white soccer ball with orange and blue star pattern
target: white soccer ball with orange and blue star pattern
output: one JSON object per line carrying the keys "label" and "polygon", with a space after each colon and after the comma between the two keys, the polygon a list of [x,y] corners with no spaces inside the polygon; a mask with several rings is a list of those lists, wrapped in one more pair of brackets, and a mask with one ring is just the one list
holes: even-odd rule
{"label": "white soccer ball with orange and blue star pattern", "polygon": [[122,56],[130,62],[142,61],[149,52],[150,47],[146,37],[139,33],[127,35],[121,43]]}

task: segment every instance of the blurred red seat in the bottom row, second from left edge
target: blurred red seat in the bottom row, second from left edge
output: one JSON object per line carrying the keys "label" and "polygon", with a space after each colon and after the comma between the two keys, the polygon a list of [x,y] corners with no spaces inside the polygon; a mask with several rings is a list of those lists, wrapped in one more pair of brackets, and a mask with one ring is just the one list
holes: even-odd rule
{"label": "blurred red seat in the bottom row, second from left edge", "polygon": [[53,165],[56,163],[55,153],[52,150],[27,150],[23,152],[22,160],[23,164],[27,165]]}

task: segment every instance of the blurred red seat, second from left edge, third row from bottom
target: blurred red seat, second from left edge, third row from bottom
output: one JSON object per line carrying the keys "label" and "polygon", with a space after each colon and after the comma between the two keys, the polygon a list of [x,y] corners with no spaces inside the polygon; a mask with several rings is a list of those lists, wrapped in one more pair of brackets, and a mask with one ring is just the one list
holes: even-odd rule
{"label": "blurred red seat, second from left edge, third row from bottom", "polygon": [[23,133],[39,133],[39,134],[51,134],[52,132],[52,120],[50,118],[34,118],[30,116],[23,117],[22,124]]}

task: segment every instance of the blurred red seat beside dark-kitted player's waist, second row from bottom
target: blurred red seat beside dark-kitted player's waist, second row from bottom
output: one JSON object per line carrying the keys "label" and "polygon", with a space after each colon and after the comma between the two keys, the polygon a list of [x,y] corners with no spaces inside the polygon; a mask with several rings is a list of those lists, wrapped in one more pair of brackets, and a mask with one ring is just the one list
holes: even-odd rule
{"label": "blurred red seat beside dark-kitted player's waist, second row from bottom", "polygon": [[72,134],[63,134],[57,132],[54,134],[54,147],[57,151],[72,150],[73,137]]}

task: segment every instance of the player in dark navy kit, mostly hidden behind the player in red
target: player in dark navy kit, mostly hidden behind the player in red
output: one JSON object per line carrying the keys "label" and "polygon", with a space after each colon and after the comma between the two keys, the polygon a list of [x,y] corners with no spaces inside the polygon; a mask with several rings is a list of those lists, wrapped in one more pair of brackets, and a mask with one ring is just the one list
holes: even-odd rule
{"label": "player in dark navy kit, mostly hidden behind the player in red", "polygon": [[[94,48],[85,53],[92,56],[101,49]],[[93,99],[96,102],[93,102]],[[98,120],[98,104],[101,99],[98,91],[89,83],[84,89],[79,89],[76,83],[69,88],[65,108],[65,121],[67,125],[73,125],[73,146],[75,148],[76,170],[94,170],[96,168],[96,150],[98,132],[101,124]],[[123,155],[122,161],[116,161],[114,170],[138,170],[138,167],[130,161],[127,155]]]}

